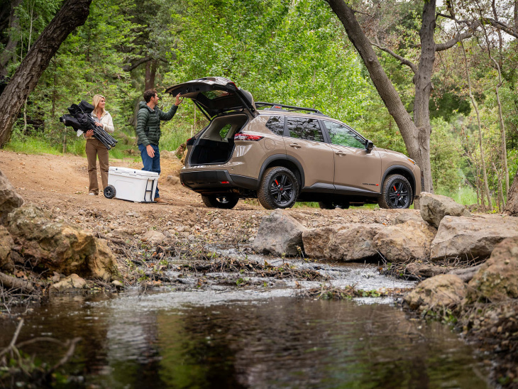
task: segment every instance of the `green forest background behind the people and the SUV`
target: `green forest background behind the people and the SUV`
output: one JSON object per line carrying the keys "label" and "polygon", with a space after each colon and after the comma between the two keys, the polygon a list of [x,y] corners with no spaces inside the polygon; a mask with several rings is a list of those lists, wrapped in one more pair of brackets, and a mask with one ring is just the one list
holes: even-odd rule
{"label": "green forest background behind the people and the SUV", "polygon": [[[423,1],[353,3],[362,10],[358,18],[364,31],[388,49],[378,50],[378,57],[412,113],[412,70],[397,55],[418,61]],[[458,3],[457,19],[494,11],[517,28],[516,1]],[[0,77],[5,82],[61,4],[0,0]],[[447,14],[448,7],[439,5],[437,11]],[[436,43],[458,29],[448,18],[436,23]],[[483,23],[462,43],[436,54],[432,77],[434,190],[463,204],[480,204],[484,166],[495,212],[506,201],[505,175],[512,182],[518,168],[516,45],[516,38]],[[62,43],[29,95],[7,148],[84,155],[84,140],[58,118],[70,104],[103,94],[119,139],[111,158],[138,160],[134,121],[143,91],[155,87],[160,94],[173,84],[207,76],[233,80],[255,101],[319,109],[375,146],[407,153],[363,61],[323,0],[93,0],[87,22]],[[160,97],[160,106],[168,109],[172,97]],[[184,102],[175,119],[162,124],[161,148],[176,150],[206,123],[194,104]],[[502,128],[508,172],[501,156]]]}

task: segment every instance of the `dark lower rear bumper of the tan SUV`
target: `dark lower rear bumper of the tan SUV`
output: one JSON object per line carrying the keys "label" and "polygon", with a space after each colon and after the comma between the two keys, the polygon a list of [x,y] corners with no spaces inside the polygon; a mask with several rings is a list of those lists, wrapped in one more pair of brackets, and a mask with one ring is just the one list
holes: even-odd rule
{"label": "dark lower rear bumper of the tan SUV", "polygon": [[180,182],[194,192],[228,192],[244,188],[257,190],[258,180],[243,175],[233,175],[228,170],[202,170],[199,172],[180,172]]}

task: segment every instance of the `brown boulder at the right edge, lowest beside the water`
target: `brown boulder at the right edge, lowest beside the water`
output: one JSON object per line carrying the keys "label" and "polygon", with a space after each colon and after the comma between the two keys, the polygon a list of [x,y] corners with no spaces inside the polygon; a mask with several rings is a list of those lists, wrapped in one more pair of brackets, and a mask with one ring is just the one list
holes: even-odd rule
{"label": "brown boulder at the right edge, lowest beside the water", "polygon": [[499,243],[468,284],[469,300],[498,302],[518,298],[518,236]]}

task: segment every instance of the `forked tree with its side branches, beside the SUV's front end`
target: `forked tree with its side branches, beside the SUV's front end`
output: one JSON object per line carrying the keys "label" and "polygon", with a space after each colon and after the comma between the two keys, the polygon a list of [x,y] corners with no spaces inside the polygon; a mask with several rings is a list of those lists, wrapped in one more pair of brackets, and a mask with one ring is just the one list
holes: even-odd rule
{"label": "forked tree with its side branches, beside the SUV's front end", "polygon": [[[358,50],[360,57],[362,57],[365,67],[367,67],[370,77],[376,89],[378,89],[380,97],[385,103],[385,106],[387,106],[390,115],[395,119],[399,131],[401,131],[410,157],[416,160],[417,165],[421,168],[424,178],[424,190],[433,192],[429,146],[431,135],[429,101],[433,89],[431,76],[434,69],[435,54],[436,52],[453,47],[453,45],[470,37],[472,34],[469,31],[458,32],[453,38],[447,40],[446,43],[436,43],[434,40],[436,30],[436,1],[424,1],[419,23],[420,50],[417,57],[418,63],[415,63],[416,61],[414,61],[412,57],[408,59],[408,57],[404,57],[404,53],[399,54],[387,45],[382,45],[376,41],[379,40],[381,35],[378,31],[386,31],[384,28],[377,28],[378,26],[383,27],[387,24],[384,23],[386,17],[383,15],[387,13],[394,15],[393,12],[390,12],[391,7],[397,10],[397,4],[395,2],[385,1],[383,4],[375,2],[370,9],[369,7],[364,9],[363,14],[368,17],[365,20],[365,26],[362,28],[356,18],[355,11],[350,5],[346,4],[343,0],[326,1],[342,22],[349,39],[356,50]],[[361,4],[355,5],[361,6]],[[387,12],[380,12],[382,8]],[[392,23],[399,23],[397,15]],[[372,25],[374,25],[373,28],[371,28]],[[365,33],[365,31],[368,31],[368,33]],[[368,38],[368,35],[373,36],[372,38]],[[390,33],[385,33],[385,35],[389,38],[391,36]],[[416,38],[417,31],[415,31],[413,35],[413,39]],[[385,51],[385,53],[389,53],[401,62],[402,65],[408,66],[412,72],[414,72],[412,80],[415,85],[413,117],[411,117],[405,109],[394,84],[390,81],[389,77],[387,77],[387,73],[381,66],[380,60],[378,60],[378,55],[376,55],[373,50],[373,45]],[[408,50],[412,52],[412,48],[410,48],[409,45],[403,45],[402,48],[403,51]]]}

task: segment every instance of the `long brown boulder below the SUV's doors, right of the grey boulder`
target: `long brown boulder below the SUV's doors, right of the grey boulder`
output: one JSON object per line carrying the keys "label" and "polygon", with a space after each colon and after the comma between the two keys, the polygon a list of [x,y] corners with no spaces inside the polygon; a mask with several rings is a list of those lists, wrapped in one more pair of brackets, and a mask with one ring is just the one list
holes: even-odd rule
{"label": "long brown boulder below the SUV's doors, right of the grey boulder", "polygon": [[304,231],[304,251],[311,258],[358,261],[379,256],[374,237],[382,224],[342,224]]}

